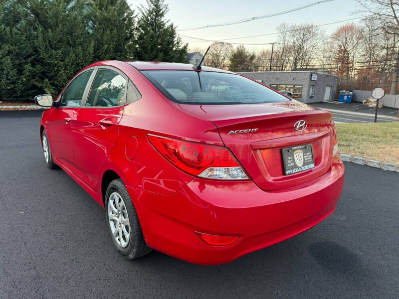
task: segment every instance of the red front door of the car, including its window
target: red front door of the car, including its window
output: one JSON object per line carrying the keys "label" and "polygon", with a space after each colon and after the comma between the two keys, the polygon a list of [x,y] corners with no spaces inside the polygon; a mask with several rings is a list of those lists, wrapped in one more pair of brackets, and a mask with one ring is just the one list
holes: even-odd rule
{"label": "red front door of the car, including its window", "polygon": [[93,71],[94,69],[83,71],[67,85],[60,96],[57,107],[52,111],[48,123],[52,154],[58,163],[72,172],[76,170],[73,156],[72,128]]}

